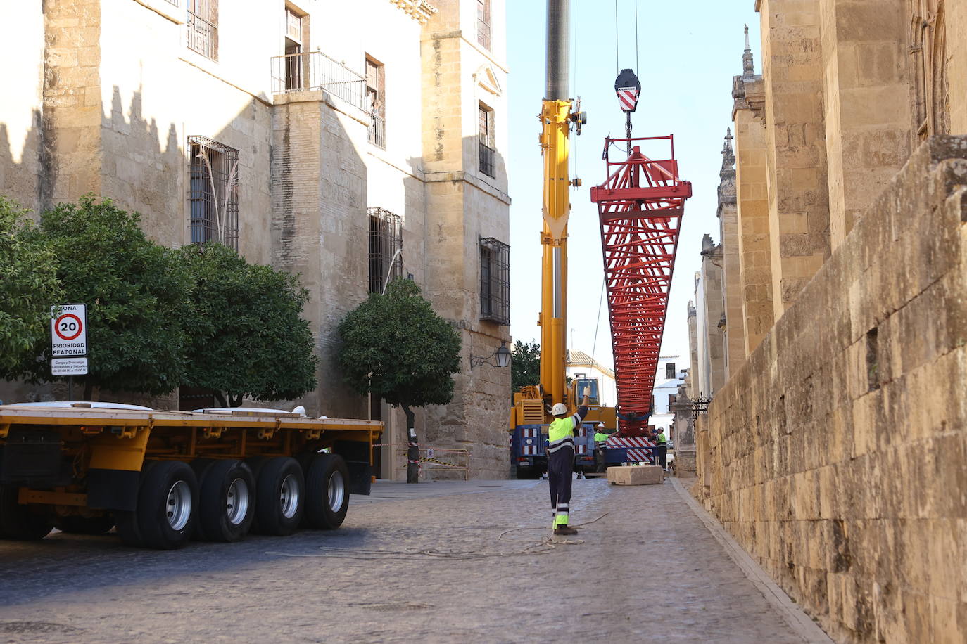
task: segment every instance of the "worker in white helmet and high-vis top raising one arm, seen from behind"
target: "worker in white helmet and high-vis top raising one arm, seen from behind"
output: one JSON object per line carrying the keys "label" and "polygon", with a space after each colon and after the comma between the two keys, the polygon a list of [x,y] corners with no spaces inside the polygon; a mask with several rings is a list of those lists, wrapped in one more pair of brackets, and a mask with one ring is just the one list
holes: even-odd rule
{"label": "worker in white helmet and high-vis top raising one arm, seen from behind", "polygon": [[577,530],[568,525],[571,514],[571,473],[574,466],[574,436],[588,415],[591,387],[584,387],[584,400],[577,413],[569,416],[568,407],[558,403],[551,407],[554,420],[547,427],[547,483],[550,486],[550,507],[554,516],[554,534],[575,535]]}

